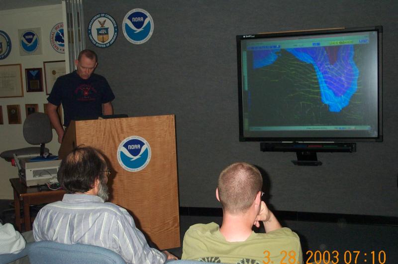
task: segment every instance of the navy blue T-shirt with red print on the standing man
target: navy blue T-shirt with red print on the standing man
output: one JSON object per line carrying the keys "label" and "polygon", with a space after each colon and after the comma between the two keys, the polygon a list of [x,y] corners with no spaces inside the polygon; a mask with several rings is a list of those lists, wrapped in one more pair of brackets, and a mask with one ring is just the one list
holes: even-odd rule
{"label": "navy blue T-shirt with red print on the standing man", "polygon": [[114,98],[104,77],[93,73],[84,80],[74,71],[55,81],[47,101],[56,106],[62,104],[67,127],[71,120],[97,119],[102,115],[102,104]]}

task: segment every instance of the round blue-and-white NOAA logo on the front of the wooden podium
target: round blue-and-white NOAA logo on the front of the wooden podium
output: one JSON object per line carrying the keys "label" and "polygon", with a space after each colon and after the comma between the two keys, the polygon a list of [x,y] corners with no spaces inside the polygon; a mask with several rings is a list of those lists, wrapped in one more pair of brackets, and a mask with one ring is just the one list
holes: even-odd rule
{"label": "round blue-and-white NOAA logo on the front of the wooden podium", "polygon": [[117,161],[127,171],[140,171],[151,160],[151,147],[142,137],[132,135],[125,138],[117,148]]}

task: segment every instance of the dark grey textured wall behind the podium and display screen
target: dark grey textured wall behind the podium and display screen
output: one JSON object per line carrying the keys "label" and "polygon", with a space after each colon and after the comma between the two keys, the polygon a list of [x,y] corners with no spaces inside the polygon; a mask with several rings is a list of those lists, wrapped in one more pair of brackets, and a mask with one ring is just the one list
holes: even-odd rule
{"label": "dark grey textured wall behind the podium and display screen", "polygon": [[[154,19],[148,42],[123,36],[133,8]],[[398,2],[373,0],[85,0],[86,28],[106,12],[119,25],[99,54],[97,73],[110,83],[117,114],[176,115],[180,206],[219,207],[219,172],[235,161],[262,167],[277,210],[398,216]],[[318,153],[319,167],[291,163],[295,153],[260,152],[238,141],[235,36],[332,27],[383,25],[384,141],[357,144],[356,153]],[[87,30],[87,29],[85,29]]]}

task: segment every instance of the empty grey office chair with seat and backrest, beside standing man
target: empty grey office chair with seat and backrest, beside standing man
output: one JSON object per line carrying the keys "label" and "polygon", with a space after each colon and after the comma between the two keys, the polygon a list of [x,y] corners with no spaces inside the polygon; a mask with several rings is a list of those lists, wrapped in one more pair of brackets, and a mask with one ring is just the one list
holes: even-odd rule
{"label": "empty grey office chair with seat and backrest, beside standing man", "polygon": [[13,154],[30,155],[40,154],[46,156],[49,153],[45,144],[50,142],[53,138],[51,123],[48,116],[44,113],[33,113],[26,117],[23,122],[23,137],[26,142],[32,145],[40,145],[40,147],[23,147],[17,149],[5,150],[0,153],[0,157],[6,161],[13,159]]}

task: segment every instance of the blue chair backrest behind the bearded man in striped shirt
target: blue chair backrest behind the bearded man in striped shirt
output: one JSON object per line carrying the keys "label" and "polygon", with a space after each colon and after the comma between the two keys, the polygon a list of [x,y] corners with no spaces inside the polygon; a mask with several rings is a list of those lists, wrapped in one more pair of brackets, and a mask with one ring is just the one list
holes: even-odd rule
{"label": "blue chair backrest behind the bearded man in striped shirt", "polygon": [[52,241],[33,243],[28,248],[28,256],[30,264],[126,264],[120,255],[105,248]]}

